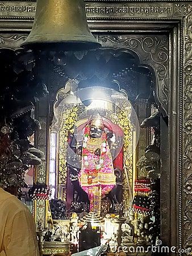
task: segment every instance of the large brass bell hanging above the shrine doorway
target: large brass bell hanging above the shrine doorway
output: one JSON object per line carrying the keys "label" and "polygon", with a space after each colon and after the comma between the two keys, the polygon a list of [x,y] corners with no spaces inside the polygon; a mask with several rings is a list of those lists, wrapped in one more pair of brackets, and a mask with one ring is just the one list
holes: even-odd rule
{"label": "large brass bell hanging above the shrine doorway", "polygon": [[37,0],[31,33],[21,46],[78,51],[101,44],[89,30],[84,0]]}

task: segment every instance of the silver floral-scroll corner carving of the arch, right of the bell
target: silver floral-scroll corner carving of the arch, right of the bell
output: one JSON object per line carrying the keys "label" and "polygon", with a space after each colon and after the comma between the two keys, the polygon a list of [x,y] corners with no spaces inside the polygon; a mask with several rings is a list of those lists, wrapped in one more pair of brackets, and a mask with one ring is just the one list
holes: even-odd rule
{"label": "silver floral-scroll corner carving of the arch, right of the bell", "polygon": [[128,49],[148,67],[155,76],[156,101],[162,112],[168,115],[168,75],[169,40],[168,36],[99,35],[102,46]]}

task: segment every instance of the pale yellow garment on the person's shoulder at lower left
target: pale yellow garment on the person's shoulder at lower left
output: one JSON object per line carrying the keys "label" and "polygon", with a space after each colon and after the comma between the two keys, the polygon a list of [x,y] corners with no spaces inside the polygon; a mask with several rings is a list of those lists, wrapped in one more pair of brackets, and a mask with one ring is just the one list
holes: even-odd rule
{"label": "pale yellow garment on the person's shoulder at lower left", "polygon": [[35,222],[19,199],[0,188],[0,256],[39,256]]}

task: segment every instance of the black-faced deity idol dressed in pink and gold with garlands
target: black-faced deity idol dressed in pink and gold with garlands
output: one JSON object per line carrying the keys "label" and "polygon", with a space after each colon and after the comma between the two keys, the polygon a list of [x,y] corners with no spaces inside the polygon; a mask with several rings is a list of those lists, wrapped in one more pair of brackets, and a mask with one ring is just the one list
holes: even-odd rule
{"label": "black-faced deity idol dressed in pink and gold with garlands", "polygon": [[82,145],[82,165],[78,174],[81,188],[90,200],[90,211],[100,212],[101,199],[116,184],[112,156],[100,115],[87,123]]}

